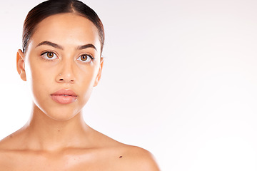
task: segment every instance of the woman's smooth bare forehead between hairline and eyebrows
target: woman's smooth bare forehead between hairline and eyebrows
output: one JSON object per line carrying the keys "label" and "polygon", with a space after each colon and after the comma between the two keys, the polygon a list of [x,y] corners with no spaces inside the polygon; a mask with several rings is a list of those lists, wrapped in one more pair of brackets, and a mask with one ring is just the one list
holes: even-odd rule
{"label": "woman's smooth bare forehead between hairline and eyebrows", "polygon": [[56,14],[41,21],[35,29],[31,43],[53,41],[63,46],[92,43],[100,51],[99,33],[94,24],[78,14]]}

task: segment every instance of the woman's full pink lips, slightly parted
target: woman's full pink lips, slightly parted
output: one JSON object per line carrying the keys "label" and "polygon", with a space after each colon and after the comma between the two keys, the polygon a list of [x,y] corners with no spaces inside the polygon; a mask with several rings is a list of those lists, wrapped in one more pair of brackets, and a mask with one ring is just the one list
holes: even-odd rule
{"label": "woman's full pink lips, slightly parted", "polygon": [[70,104],[74,103],[78,98],[78,95],[71,89],[61,89],[51,94],[51,99],[56,103]]}

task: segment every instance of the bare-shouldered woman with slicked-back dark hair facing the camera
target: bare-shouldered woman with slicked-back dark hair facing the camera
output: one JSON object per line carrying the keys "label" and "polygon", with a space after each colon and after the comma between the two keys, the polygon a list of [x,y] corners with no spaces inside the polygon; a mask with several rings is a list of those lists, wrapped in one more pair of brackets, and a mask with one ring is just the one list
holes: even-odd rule
{"label": "bare-shouldered woman with slicked-back dark hair facing the camera", "polygon": [[29,82],[31,118],[0,142],[0,170],[158,170],[140,147],[84,123],[81,109],[101,78],[104,27],[81,1],[50,0],[24,22],[17,71]]}

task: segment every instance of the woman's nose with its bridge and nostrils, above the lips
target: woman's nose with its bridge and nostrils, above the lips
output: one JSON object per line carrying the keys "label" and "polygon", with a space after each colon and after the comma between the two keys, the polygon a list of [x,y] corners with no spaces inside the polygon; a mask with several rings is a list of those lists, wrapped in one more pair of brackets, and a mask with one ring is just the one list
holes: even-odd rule
{"label": "woman's nose with its bridge and nostrils, above the lips", "polygon": [[61,71],[57,77],[57,81],[65,83],[75,81],[74,62],[71,58],[64,58],[61,61]]}

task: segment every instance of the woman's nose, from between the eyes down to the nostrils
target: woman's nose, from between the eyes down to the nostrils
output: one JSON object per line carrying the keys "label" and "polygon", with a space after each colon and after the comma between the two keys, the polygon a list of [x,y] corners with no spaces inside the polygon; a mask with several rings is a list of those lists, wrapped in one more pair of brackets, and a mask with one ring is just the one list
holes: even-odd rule
{"label": "woman's nose, from between the eyes down to the nostrils", "polygon": [[58,83],[74,83],[75,82],[74,66],[72,65],[72,62],[62,63],[61,71],[56,76],[56,81]]}

